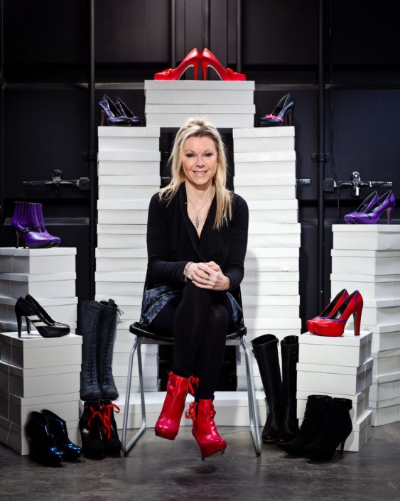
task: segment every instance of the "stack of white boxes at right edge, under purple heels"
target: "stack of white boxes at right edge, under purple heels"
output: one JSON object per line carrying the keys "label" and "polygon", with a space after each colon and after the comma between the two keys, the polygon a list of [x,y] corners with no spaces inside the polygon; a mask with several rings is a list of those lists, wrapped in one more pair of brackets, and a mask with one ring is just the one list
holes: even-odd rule
{"label": "stack of white boxes at right edge, under purple heels", "polygon": [[400,225],[333,225],[332,293],[360,291],[362,328],[373,333],[372,426],[400,421],[399,233]]}

